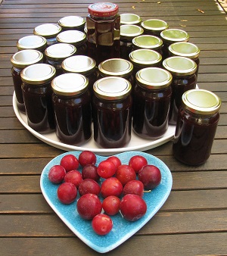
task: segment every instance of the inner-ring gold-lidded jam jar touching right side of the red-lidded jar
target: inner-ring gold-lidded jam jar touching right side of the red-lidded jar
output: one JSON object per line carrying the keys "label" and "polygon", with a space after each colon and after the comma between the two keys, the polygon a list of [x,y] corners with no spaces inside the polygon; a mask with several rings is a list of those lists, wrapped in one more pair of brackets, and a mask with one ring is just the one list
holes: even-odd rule
{"label": "inner-ring gold-lidded jam jar touching right side of the red-lidded jar", "polygon": [[129,60],[129,53],[132,52],[132,39],[143,33],[144,30],[137,25],[120,26],[120,58]]}

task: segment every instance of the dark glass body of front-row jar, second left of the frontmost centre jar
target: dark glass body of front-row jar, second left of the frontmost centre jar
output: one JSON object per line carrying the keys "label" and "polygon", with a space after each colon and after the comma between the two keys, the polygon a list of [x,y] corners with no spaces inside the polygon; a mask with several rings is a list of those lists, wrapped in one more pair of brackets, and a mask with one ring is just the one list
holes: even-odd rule
{"label": "dark glass body of front-row jar, second left of the frontmost centre jar", "polygon": [[42,85],[31,85],[23,82],[22,92],[28,125],[39,133],[54,131],[51,82]]}

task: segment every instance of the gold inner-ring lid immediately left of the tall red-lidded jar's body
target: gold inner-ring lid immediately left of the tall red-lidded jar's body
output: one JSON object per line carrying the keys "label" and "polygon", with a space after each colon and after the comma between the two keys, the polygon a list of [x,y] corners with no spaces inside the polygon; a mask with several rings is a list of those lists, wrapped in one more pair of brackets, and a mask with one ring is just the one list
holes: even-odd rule
{"label": "gold inner-ring lid immediately left of the tall red-lidded jar's body", "polygon": [[70,45],[78,46],[86,42],[86,34],[79,30],[66,30],[56,37],[58,42],[65,42]]}

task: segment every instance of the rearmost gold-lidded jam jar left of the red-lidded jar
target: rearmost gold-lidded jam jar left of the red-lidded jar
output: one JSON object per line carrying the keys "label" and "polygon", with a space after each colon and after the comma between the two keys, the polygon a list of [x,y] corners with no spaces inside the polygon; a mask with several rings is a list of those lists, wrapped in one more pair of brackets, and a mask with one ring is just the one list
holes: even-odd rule
{"label": "rearmost gold-lidded jam jar left of the red-lidded jar", "polygon": [[74,15],[62,17],[60,20],[58,20],[58,25],[61,27],[62,31],[79,30],[83,32],[85,23],[86,20],[83,17]]}

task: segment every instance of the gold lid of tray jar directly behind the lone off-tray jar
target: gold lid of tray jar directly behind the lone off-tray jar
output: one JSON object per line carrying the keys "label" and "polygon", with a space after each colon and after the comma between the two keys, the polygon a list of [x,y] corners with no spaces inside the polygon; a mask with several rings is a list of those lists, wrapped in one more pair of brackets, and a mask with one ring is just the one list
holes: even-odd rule
{"label": "gold lid of tray jar directly behind the lone off-tray jar", "polygon": [[197,64],[193,60],[180,56],[166,58],[163,67],[174,76],[189,76],[197,70]]}

